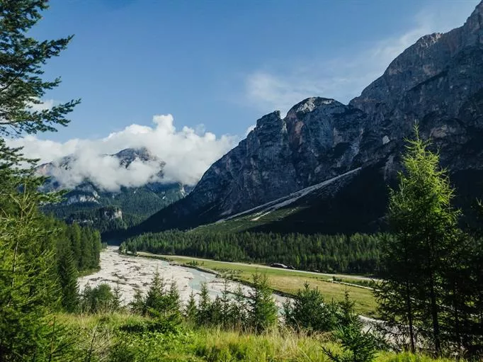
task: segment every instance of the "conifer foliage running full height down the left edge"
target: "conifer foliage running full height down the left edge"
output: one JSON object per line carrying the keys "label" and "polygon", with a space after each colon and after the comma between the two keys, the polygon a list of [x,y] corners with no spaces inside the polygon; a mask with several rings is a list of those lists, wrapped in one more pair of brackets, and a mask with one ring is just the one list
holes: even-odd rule
{"label": "conifer foliage running full height down the left edge", "polygon": [[[72,38],[39,41],[28,36],[46,8],[47,1],[41,0],[0,1],[2,136],[67,125],[65,115],[78,103],[37,110],[46,91],[60,82],[42,79],[42,65],[59,55]],[[60,295],[67,309],[76,302],[72,256],[59,252],[65,244],[54,241],[58,228],[38,212],[39,205],[56,197],[38,193],[45,179],[33,176],[28,167],[33,164],[34,160],[22,156],[21,149],[7,147],[0,138],[1,361],[64,361],[72,346],[64,327],[52,315],[61,305]]]}

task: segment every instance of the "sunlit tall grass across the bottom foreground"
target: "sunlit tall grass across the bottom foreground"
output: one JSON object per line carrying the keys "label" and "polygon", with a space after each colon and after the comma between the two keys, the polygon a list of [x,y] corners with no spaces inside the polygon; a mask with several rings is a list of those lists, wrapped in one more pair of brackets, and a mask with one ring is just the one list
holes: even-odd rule
{"label": "sunlit tall grass across the bottom foreground", "polygon": [[[146,317],[127,313],[99,315],[57,315],[76,338],[79,361],[248,361],[329,362],[322,347],[340,351],[330,334],[297,334],[273,329],[265,334],[224,331],[219,328],[193,329],[181,325],[177,334],[126,333],[123,325],[149,322]],[[380,351],[375,362],[450,362],[422,354]]]}

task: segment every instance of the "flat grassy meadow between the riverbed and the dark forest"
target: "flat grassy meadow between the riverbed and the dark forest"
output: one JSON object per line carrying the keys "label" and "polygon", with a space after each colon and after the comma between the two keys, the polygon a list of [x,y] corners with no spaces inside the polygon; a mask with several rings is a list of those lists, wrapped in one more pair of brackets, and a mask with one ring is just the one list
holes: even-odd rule
{"label": "flat grassy meadow between the riverbed and the dark forest", "polygon": [[331,275],[323,273],[307,273],[304,271],[288,271],[281,268],[270,268],[256,264],[227,263],[209,259],[190,258],[188,256],[168,256],[149,254],[144,252],[137,253],[140,256],[157,257],[186,266],[198,266],[219,273],[224,278],[246,282],[251,281],[251,276],[256,271],[266,273],[273,290],[282,293],[294,294],[298,289],[303,288],[305,282],[312,287],[317,287],[322,291],[325,300],[341,301],[344,293],[348,290],[351,299],[356,302],[356,311],[366,317],[377,317],[376,303],[371,290],[358,288],[351,285],[332,283],[331,278],[336,276],[344,282],[351,283],[361,280],[370,280],[360,276]]}

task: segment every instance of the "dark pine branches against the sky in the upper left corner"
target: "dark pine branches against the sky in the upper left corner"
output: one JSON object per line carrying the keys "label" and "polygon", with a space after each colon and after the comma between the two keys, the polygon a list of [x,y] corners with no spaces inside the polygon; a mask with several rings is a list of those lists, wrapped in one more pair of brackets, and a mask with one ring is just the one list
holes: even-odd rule
{"label": "dark pine branches against the sky in the upper left corner", "polygon": [[45,81],[42,65],[57,57],[72,39],[35,40],[26,35],[37,23],[47,1],[19,0],[0,3],[0,134],[21,135],[55,131],[55,125],[67,125],[64,115],[79,101],[37,111],[46,91],[60,84],[60,79]]}

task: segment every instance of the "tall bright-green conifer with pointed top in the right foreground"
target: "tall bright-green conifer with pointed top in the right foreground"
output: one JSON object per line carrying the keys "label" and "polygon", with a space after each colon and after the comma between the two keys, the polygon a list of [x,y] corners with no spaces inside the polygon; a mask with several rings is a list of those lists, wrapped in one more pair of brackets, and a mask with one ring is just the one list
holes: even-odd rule
{"label": "tall bright-green conifer with pointed top in the right foreground", "polygon": [[385,244],[384,281],[377,291],[382,316],[409,326],[411,350],[415,324],[431,326],[436,354],[441,354],[443,274],[458,244],[458,216],[451,206],[453,189],[439,168],[429,142],[409,141],[402,158],[404,173],[390,193],[389,222],[394,239]]}

